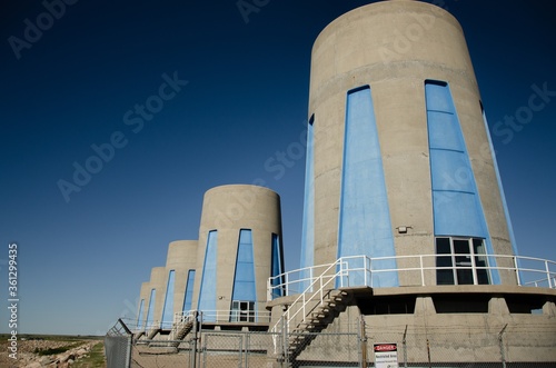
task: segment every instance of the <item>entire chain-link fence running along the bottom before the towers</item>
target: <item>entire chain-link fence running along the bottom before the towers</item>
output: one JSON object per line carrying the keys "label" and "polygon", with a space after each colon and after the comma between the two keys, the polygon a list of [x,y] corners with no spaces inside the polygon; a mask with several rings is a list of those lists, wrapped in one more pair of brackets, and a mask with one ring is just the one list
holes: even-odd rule
{"label": "entire chain-link fence running along the bottom before the towers", "polygon": [[[183,340],[160,335],[157,339],[131,339],[117,326],[106,338],[107,367],[556,367],[556,336],[553,329],[543,332],[539,326],[505,325],[461,334],[440,326],[376,329],[364,320],[354,316],[318,334],[192,330]],[[532,330],[536,339],[524,341]],[[547,351],[554,359],[546,362],[546,356],[536,356],[538,351]]]}

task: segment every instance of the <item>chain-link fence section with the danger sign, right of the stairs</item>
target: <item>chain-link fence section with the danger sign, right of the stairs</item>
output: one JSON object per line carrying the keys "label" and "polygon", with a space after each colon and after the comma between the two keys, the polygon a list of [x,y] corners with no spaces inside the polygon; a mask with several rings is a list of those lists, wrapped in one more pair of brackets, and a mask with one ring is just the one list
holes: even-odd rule
{"label": "chain-link fence section with the danger sign, right of the stairs", "polygon": [[[528,335],[532,330],[534,339]],[[385,346],[395,348],[398,367],[556,367],[554,330],[543,331],[539,326],[504,325],[496,330],[467,329],[463,334],[454,326],[425,329],[406,325],[379,334],[367,327],[366,335],[367,367],[375,367]]]}

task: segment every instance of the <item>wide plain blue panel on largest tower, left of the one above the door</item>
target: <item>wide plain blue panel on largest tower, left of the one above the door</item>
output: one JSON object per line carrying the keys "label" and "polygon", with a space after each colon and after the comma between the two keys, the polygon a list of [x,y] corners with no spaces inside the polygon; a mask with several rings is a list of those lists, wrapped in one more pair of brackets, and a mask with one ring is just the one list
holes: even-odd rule
{"label": "wide plain blue panel on largest tower, left of the one above the door", "polygon": [[[383,158],[370,88],[348,92],[341,172],[338,258],[365,255],[394,257],[394,237],[383,170]],[[350,261],[350,268],[360,267]],[[360,261],[358,261],[360,262]],[[396,269],[395,259],[381,268]],[[350,286],[365,285],[364,271],[349,275]],[[367,285],[370,285],[367,279]],[[379,272],[374,287],[398,286],[396,271]]]}

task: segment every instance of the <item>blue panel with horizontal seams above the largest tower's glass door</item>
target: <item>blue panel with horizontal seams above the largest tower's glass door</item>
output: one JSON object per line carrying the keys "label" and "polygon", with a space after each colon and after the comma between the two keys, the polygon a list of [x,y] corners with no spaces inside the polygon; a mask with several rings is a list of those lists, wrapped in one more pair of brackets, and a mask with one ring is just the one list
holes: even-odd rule
{"label": "blue panel with horizontal seams above the largest tower's glass door", "polygon": [[[425,81],[435,236],[485,239],[494,249],[449,86]],[[492,260],[490,266],[496,266]],[[499,275],[493,271],[493,284]]]}

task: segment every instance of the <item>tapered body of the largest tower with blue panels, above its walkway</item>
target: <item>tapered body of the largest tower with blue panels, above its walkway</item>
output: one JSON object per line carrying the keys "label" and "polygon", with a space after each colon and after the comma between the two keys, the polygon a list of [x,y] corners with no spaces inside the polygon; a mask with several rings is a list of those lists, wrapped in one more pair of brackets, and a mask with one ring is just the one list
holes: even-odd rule
{"label": "tapered body of the largest tower with blue panels, above its walkway", "polygon": [[[447,11],[384,1],[332,21],[312,49],[309,116],[302,266],[514,253],[477,81]],[[479,273],[431,277],[516,282]],[[411,282],[386,272],[374,286]]]}

